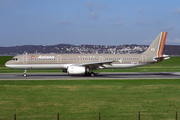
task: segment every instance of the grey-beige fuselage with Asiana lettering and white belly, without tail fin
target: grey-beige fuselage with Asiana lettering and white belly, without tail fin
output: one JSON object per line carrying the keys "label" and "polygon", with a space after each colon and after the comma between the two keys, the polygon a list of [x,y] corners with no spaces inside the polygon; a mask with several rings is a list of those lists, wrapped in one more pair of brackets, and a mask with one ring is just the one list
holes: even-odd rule
{"label": "grey-beige fuselage with Asiana lettering and white belly, without tail fin", "polygon": [[[69,66],[81,66],[83,63],[113,61],[111,64],[92,65],[94,69],[122,69],[139,67],[156,62],[147,60],[146,55],[117,54],[24,54],[15,56],[5,65],[14,69],[67,69]],[[87,65],[91,66],[91,65]]]}

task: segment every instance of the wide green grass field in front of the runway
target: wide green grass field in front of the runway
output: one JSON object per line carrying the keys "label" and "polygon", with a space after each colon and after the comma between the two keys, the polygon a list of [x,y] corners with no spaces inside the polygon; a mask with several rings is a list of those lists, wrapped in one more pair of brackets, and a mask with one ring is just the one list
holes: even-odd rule
{"label": "wide green grass field in front of the runway", "polygon": [[0,91],[0,120],[137,120],[139,111],[174,120],[180,111],[180,79],[0,81]]}

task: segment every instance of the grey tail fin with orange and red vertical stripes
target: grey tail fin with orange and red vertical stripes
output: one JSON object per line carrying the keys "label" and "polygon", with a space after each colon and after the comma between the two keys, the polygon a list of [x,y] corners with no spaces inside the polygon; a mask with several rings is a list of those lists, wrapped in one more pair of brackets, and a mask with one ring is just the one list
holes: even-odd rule
{"label": "grey tail fin with orange and red vertical stripes", "polygon": [[163,57],[164,44],[166,42],[167,32],[161,32],[152,42],[149,48],[143,54],[154,55],[154,57]]}

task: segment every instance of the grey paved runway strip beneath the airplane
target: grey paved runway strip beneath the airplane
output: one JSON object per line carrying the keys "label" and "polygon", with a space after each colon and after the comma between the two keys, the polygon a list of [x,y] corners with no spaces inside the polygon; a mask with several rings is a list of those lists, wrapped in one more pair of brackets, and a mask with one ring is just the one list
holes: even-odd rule
{"label": "grey paved runway strip beneath the airplane", "polygon": [[0,80],[98,80],[98,79],[180,79],[180,72],[128,72],[128,73],[96,73],[95,77],[84,75],[68,75],[66,73],[28,73],[24,77],[20,73],[1,73]]}

